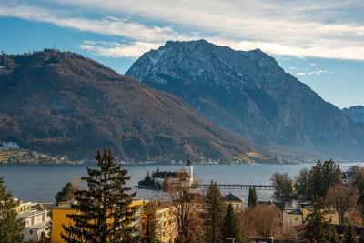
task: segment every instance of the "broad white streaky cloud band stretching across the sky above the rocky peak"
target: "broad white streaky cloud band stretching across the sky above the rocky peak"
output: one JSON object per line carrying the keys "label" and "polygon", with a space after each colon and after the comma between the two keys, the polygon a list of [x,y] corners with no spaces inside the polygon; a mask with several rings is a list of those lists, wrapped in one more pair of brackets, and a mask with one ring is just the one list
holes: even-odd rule
{"label": "broad white streaky cloud band stretching across the sky above the rocky peak", "polygon": [[[128,41],[121,45],[81,45],[103,56],[112,53],[139,56],[145,50],[143,46],[157,46],[167,40],[206,38],[221,46],[238,50],[260,48],[279,56],[364,60],[364,19],[361,16],[364,5],[359,0],[329,3],[257,0],[254,4],[248,0],[224,4],[217,0],[210,0],[208,4],[193,0],[164,1],[163,4],[157,0],[54,1],[62,11],[36,5],[39,1],[29,3],[2,4],[0,16],[115,35]],[[91,10],[98,17],[77,15],[75,9]]]}

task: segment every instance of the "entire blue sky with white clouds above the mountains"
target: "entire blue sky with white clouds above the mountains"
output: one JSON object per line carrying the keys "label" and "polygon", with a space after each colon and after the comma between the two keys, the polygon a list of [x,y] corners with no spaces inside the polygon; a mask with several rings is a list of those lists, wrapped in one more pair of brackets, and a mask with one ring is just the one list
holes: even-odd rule
{"label": "entire blue sky with white clouds above the mountains", "polygon": [[81,53],[124,74],[167,40],[260,48],[340,108],[364,105],[363,1],[0,0],[0,51]]}

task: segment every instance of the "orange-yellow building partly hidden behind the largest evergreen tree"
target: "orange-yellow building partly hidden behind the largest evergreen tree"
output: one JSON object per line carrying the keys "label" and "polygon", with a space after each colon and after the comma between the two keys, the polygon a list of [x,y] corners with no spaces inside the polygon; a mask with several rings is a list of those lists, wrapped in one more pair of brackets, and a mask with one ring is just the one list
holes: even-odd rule
{"label": "orange-yellow building partly hidden behind the largest evergreen tree", "polygon": [[[129,205],[130,208],[136,207],[136,212],[133,216],[132,225],[135,227],[134,236],[140,236],[142,231],[142,213],[143,213],[143,200],[133,200]],[[76,209],[72,209],[69,205],[63,204],[62,207],[53,209],[52,215],[52,243],[64,243],[65,240],[61,238],[61,234],[66,234],[62,225],[69,226],[73,222],[70,218],[67,218],[68,214],[75,214]]]}

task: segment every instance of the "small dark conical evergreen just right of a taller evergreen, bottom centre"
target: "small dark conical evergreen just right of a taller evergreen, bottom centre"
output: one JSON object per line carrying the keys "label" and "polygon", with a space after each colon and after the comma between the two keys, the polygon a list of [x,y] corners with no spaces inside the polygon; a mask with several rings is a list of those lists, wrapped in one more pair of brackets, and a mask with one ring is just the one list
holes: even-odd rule
{"label": "small dark conical evergreen just right of a taller evergreen, bottom centre", "polygon": [[222,225],[222,238],[235,238],[235,242],[242,242],[241,228],[238,222],[238,217],[234,212],[231,203],[227,206],[227,213]]}

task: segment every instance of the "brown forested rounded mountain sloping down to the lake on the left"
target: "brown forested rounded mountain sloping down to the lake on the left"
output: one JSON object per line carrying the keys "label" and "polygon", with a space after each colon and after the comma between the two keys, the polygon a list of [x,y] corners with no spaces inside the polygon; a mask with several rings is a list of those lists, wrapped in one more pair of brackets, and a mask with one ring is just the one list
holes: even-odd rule
{"label": "brown forested rounded mountain sloping down to the lake on the left", "polygon": [[110,147],[125,160],[191,155],[257,161],[249,155],[261,152],[177,96],[84,56],[49,49],[0,56],[0,141],[73,157]]}

